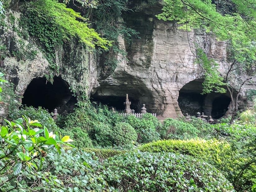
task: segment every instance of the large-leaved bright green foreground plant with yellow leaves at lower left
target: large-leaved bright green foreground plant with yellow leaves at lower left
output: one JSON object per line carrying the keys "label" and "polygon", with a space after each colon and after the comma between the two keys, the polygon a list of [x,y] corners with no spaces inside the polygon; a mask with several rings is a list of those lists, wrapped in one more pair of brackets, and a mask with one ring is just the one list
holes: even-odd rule
{"label": "large-leaved bright green foreground plant with yellow leaves at lower left", "polygon": [[47,152],[56,149],[60,154],[60,145],[65,142],[72,146],[68,143],[73,141],[69,136],[59,140],[57,135],[48,132],[47,127],[38,128],[42,127],[38,120],[30,120],[26,116],[23,119],[6,120],[7,125],[0,129],[0,187],[3,191],[20,188],[28,182],[26,179],[29,178],[23,175],[40,171]]}

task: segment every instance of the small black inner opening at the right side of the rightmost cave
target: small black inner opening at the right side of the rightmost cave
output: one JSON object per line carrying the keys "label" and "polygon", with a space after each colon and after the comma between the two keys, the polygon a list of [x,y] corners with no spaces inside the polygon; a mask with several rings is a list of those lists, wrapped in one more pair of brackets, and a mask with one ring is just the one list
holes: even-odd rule
{"label": "small black inner opening at the right side of the rightmost cave", "polygon": [[221,118],[228,110],[231,99],[228,96],[221,95],[213,100],[212,117]]}

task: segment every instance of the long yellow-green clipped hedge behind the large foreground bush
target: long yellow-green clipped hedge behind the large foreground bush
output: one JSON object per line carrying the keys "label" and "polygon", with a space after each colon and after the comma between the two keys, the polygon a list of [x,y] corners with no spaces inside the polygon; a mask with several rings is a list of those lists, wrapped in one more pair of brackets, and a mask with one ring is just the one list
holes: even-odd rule
{"label": "long yellow-green clipped hedge behind the large foreground bush", "polygon": [[220,167],[222,166],[223,159],[225,159],[223,154],[230,150],[230,147],[225,141],[191,139],[160,140],[141,145],[138,149],[154,153],[164,151],[191,155],[216,167]]}

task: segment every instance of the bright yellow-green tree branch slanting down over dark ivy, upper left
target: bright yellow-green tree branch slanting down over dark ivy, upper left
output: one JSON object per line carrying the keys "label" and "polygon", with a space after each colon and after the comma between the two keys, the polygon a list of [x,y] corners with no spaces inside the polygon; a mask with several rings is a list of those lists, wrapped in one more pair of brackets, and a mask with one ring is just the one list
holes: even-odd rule
{"label": "bright yellow-green tree branch slanting down over dark ivy, upper left", "polygon": [[40,16],[52,20],[61,29],[64,38],[79,37],[81,42],[91,48],[97,45],[108,50],[111,46],[110,41],[100,37],[94,29],[88,27],[86,18],[73,9],[67,8],[65,4],[58,3],[56,0],[38,0],[31,2],[31,6],[42,11]]}

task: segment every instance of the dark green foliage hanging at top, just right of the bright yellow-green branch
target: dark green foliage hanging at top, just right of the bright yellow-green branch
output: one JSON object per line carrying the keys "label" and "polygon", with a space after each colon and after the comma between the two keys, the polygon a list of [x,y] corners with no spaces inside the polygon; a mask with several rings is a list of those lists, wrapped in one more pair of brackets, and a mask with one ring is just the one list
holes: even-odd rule
{"label": "dark green foliage hanging at top, just right of the bright yellow-green branch", "polygon": [[[76,2],[84,2],[76,0]],[[128,0],[99,0],[96,7],[86,8],[82,4],[81,11],[84,12],[86,17],[92,20],[95,30],[103,34],[108,40],[112,41],[113,46],[110,47],[108,52],[100,50],[103,54],[104,71],[105,75],[114,72],[118,63],[126,59],[126,51],[119,46],[118,38],[122,37],[127,43],[131,42],[132,36],[138,37],[138,33],[126,26],[125,22],[121,19],[122,12],[128,10],[126,4]],[[79,7],[80,4],[75,5]]]}

